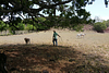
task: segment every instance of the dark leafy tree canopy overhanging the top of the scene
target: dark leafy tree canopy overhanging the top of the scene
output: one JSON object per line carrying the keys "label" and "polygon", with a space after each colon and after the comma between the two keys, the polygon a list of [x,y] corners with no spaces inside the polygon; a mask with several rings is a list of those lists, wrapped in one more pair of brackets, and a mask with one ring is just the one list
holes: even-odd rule
{"label": "dark leafy tree canopy overhanging the top of the scene", "polygon": [[[46,26],[86,23],[90,13],[84,7],[93,4],[95,0],[0,0],[0,20],[8,19],[17,24],[23,19],[32,19]],[[105,0],[105,4],[108,1]],[[56,13],[59,12],[57,16]],[[45,17],[45,21],[38,20]],[[37,20],[36,20],[37,19]],[[64,23],[65,22],[65,23]],[[50,25],[48,25],[50,24]],[[59,25],[59,26],[60,26]]]}

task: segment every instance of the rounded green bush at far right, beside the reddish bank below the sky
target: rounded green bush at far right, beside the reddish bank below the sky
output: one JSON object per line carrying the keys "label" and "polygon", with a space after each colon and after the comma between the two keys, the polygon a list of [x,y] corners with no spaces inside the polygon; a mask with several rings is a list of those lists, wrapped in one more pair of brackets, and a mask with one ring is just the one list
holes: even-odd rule
{"label": "rounded green bush at far right, beside the reddish bank below the sky", "polygon": [[102,33],[104,29],[106,29],[107,26],[106,24],[101,23],[101,22],[97,22],[94,24],[94,29],[97,31],[98,33]]}

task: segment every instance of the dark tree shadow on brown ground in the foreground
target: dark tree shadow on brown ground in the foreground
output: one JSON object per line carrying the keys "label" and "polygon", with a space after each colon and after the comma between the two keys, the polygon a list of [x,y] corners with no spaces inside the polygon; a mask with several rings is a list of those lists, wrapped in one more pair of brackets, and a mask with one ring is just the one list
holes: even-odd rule
{"label": "dark tree shadow on brown ground in the foreground", "polygon": [[43,73],[45,70],[49,73],[109,72],[109,65],[105,64],[109,62],[104,57],[85,54],[72,47],[9,45],[0,48],[8,57],[10,73]]}

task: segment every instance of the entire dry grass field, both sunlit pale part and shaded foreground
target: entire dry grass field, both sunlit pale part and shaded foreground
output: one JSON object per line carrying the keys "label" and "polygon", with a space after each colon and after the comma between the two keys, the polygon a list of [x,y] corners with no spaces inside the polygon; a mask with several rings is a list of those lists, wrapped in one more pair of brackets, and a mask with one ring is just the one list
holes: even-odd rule
{"label": "entire dry grass field, both sunlit pale part and shaded foreground", "polygon": [[[109,72],[108,33],[84,32],[86,34],[84,38],[76,38],[77,32],[68,29],[57,32],[61,35],[61,38],[58,39],[59,47],[52,46],[52,29],[26,35],[0,37],[0,41],[2,40],[0,48],[3,48],[8,56],[8,69],[10,72]],[[24,45],[24,37],[29,37],[32,45]]]}

